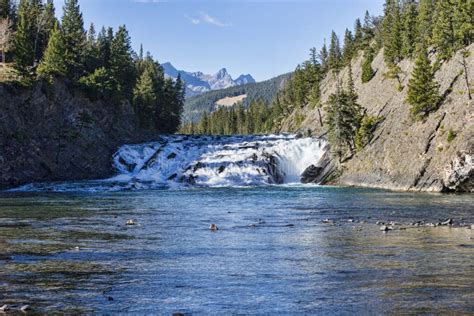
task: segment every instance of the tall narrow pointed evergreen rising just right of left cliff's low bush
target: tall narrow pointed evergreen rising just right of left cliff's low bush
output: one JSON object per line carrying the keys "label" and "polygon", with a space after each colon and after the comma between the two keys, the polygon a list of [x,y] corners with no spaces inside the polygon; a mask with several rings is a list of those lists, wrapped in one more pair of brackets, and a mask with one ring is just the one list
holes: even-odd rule
{"label": "tall narrow pointed evergreen rising just right of left cliff's low bush", "polygon": [[110,68],[119,84],[119,92],[130,99],[135,85],[135,65],[130,36],[125,26],[119,27],[110,48]]}

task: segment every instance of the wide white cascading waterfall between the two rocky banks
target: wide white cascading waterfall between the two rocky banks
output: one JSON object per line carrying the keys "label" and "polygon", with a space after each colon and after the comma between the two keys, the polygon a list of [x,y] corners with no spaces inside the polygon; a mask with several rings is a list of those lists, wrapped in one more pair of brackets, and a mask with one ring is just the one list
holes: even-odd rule
{"label": "wide white cascading waterfall between the two rocky banks", "polygon": [[28,184],[13,191],[120,191],[163,187],[237,187],[301,183],[328,149],[295,135],[162,136],[125,145],[112,157],[110,179]]}

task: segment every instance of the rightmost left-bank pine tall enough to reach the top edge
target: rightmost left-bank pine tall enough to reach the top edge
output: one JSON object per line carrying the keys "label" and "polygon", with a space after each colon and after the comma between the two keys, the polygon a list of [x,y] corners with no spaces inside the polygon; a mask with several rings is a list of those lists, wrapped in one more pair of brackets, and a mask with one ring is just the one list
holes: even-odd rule
{"label": "rightmost left-bank pine tall enough to reach the top edge", "polygon": [[78,0],[66,0],[63,8],[61,28],[66,44],[64,55],[68,64],[68,75],[78,79],[84,74],[86,33]]}

